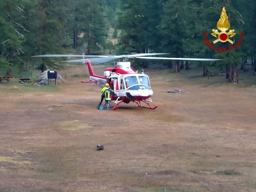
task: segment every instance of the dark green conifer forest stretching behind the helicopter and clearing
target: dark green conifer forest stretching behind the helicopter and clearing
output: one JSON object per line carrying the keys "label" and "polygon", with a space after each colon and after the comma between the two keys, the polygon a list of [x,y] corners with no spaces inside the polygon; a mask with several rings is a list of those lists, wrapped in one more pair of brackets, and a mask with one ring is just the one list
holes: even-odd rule
{"label": "dark green conifer forest stretching behind the helicopter and clearing", "polygon": [[[229,42],[209,42],[212,29],[225,7]],[[119,55],[132,53],[170,53],[170,57],[218,58],[200,62],[203,75],[208,69],[225,71],[229,82],[238,82],[237,68],[256,73],[256,2],[254,0],[2,0],[0,2],[0,70],[12,77],[14,70],[29,67],[61,69],[62,62],[32,59],[42,54]],[[240,34],[244,33],[242,42]],[[226,51],[223,51],[225,50]],[[185,61],[184,61],[185,62]],[[189,62],[160,63],[176,72],[189,69]],[[246,64],[251,65],[245,69]],[[137,63],[138,64],[138,63]],[[147,68],[149,62],[144,62]]]}

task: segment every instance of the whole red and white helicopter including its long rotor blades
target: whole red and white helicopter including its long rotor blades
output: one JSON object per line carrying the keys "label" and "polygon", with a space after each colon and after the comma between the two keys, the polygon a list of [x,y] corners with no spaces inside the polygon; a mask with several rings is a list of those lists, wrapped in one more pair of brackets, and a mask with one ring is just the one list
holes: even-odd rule
{"label": "whole red and white helicopter including its long rotor blades", "polygon": [[[112,109],[116,109],[120,103],[135,102],[138,107],[156,109],[157,105],[151,106],[153,90],[150,85],[149,76],[137,73],[131,67],[131,63],[127,61],[130,58],[137,59],[156,59],[156,60],[187,60],[187,61],[217,61],[219,59],[200,59],[200,58],[169,58],[169,57],[149,57],[152,55],[164,55],[167,53],[141,53],[133,55],[119,56],[95,56],[95,55],[38,55],[33,57],[82,57],[83,59],[68,60],[71,63],[87,63],[89,71],[89,80],[81,81],[82,83],[96,83],[100,87],[104,87],[108,83],[114,91],[111,95],[111,101],[115,105]],[[90,58],[90,59],[88,59]],[[91,63],[104,63],[115,59],[124,59],[126,61],[117,62],[113,68],[107,68],[104,76],[94,74]],[[142,104],[145,103],[146,106]]]}

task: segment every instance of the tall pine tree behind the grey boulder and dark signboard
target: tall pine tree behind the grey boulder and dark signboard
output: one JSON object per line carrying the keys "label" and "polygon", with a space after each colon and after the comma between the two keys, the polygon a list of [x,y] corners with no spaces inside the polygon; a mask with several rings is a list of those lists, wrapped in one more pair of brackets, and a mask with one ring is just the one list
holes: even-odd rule
{"label": "tall pine tree behind the grey boulder and dark signboard", "polygon": [[[70,4],[67,0],[37,0],[31,2],[28,13],[29,41],[26,46],[30,55],[62,54],[63,47],[71,43],[68,23]],[[55,60],[42,58],[42,72],[46,67],[64,67]]]}

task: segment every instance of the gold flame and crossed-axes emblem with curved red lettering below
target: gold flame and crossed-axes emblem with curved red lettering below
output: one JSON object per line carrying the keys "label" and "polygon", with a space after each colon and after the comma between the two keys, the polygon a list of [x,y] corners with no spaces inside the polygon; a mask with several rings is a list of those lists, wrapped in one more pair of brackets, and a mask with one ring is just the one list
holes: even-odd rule
{"label": "gold flame and crossed-axes emblem with curved red lettering below", "polygon": [[[212,30],[213,33],[211,33],[211,35],[213,37],[217,38],[213,41],[213,44],[209,42],[208,36],[206,35],[207,32],[205,32],[203,34],[203,36],[205,37],[204,44],[209,46],[211,49],[214,49],[214,44],[217,42],[221,42],[221,43],[229,42],[232,45],[230,45],[228,47],[228,50],[231,51],[232,49],[236,49],[243,41],[243,36],[244,36],[243,32],[241,32],[239,41],[234,46],[233,46],[234,42],[229,39],[229,38],[235,36],[235,33],[234,33],[235,30],[233,30],[233,29],[229,30],[230,23],[228,21],[225,7],[222,8],[222,12],[220,14],[219,21],[217,22],[217,28],[218,28],[218,30],[220,30],[220,32],[218,30],[213,29]],[[227,30],[229,30],[229,31],[227,32]],[[216,52],[226,52],[227,49],[218,47],[218,48],[215,48],[215,51]]]}

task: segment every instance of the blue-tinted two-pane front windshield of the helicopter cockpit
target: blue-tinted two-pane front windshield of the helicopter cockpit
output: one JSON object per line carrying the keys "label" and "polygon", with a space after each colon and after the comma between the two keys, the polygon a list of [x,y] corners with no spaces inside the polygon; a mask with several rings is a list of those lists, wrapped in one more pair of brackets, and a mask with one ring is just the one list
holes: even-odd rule
{"label": "blue-tinted two-pane front windshield of the helicopter cockpit", "polygon": [[142,87],[143,89],[151,89],[149,77],[147,76],[129,76],[129,77],[125,77],[124,80],[125,80],[125,85],[127,89],[134,89],[135,87],[138,87],[138,86]]}

